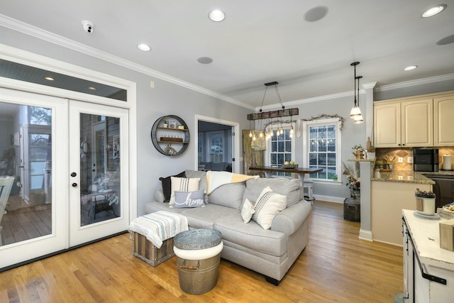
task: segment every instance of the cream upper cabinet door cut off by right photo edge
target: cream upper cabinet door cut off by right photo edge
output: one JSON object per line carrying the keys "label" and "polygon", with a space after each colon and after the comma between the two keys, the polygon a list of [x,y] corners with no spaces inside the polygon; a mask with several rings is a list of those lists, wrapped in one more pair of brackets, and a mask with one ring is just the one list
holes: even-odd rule
{"label": "cream upper cabinet door cut off by right photo edge", "polygon": [[434,146],[454,146],[454,94],[433,99]]}

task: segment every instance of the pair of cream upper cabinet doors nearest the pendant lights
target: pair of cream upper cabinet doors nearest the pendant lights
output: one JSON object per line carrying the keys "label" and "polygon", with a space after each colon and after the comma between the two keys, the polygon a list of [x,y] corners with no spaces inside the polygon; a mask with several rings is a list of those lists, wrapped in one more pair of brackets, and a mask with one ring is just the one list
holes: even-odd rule
{"label": "pair of cream upper cabinet doors nearest the pendant lights", "polygon": [[376,148],[433,145],[433,99],[399,99],[374,104]]}

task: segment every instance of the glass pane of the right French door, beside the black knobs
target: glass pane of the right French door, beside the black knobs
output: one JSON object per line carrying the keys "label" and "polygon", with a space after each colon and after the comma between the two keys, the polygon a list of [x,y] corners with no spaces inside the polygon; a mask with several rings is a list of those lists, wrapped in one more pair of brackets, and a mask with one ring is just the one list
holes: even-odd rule
{"label": "glass pane of the right French door, beside the black knobs", "polygon": [[120,119],[80,114],[81,226],[121,216]]}

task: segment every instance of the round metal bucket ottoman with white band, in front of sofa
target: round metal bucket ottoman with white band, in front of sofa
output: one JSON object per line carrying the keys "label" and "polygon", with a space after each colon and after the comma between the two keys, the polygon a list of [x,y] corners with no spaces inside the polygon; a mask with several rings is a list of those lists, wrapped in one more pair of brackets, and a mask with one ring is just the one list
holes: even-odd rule
{"label": "round metal bucket ottoman with white band, in front of sofa", "polygon": [[174,238],[179,287],[188,294],[204,294],[218,282],[223,242],[214,229],[193,229]]}

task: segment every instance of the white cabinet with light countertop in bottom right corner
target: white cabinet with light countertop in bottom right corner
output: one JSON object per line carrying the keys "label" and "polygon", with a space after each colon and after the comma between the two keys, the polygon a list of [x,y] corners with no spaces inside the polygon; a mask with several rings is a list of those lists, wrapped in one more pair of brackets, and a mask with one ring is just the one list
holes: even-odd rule
{"label": "white cabinet with light countertop in bottom right corner", "polygon": [[440,248],[441,220],[402,211],[404,302],[453,302],[454,253]]}

